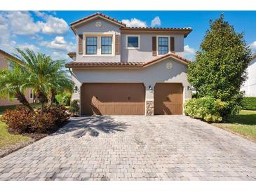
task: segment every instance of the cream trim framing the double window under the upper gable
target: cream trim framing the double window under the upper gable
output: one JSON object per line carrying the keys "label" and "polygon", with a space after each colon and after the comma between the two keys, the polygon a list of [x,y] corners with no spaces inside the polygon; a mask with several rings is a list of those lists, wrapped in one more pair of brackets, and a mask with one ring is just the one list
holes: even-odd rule
{"label": "cream trim framing the double window under the upper gable", "polygon": [[[97,36],[97,54],[92,55],[86,54],[86,36]],[[101,54],[101,37],[102,36],[112,36],[112,54]],[[115,56],[115,41],[116,39],[115,33],[98,33],[98,32],[91,32],[91,33],[83,33],[83,56],[86,57],[114,57]]]}

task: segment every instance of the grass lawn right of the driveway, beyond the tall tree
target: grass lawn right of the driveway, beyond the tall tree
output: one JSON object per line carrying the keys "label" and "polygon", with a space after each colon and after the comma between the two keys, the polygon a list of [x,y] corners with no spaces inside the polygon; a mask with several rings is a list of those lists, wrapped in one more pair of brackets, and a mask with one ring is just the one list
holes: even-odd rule
{"label": "grass lawn right of the driveway, beyond the tall tree", "polygon": [[256,142],[256,111],[242,110],[240,114],[230,117],[227,123],[213,123],[213,125]]}

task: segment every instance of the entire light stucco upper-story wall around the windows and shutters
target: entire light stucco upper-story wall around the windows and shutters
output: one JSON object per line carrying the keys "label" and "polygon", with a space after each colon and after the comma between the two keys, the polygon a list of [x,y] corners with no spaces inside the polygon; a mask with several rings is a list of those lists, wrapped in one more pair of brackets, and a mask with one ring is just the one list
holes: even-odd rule
{"label": "entire light stucco upper-story wall around the windows and shutters", "polygon": [[[101,22],[102,27],[95,27],[96,22]],[[78,34],[120,34],[120,26],[103,19],[96,19],[91,22],[86,22],[76,28],[76,62],[138,62],[149,61],[156,56],[152,56],[152,36],[161,36],[161,34],[140,34],[140,49],[127,49],[126,48],[126,35],[121,34],[121,53],[114,56],[102,55],[83,55],[79,54],[79,36]],[[175,53],[184,56],[184,35],[183,34],[163,34],[163,36],[173,36],[175,38]],[[113,41],[115,39],[113,38]],[[115,42],[114,42],[115,44]],[[85,48],[85,44],[83,44]]]}

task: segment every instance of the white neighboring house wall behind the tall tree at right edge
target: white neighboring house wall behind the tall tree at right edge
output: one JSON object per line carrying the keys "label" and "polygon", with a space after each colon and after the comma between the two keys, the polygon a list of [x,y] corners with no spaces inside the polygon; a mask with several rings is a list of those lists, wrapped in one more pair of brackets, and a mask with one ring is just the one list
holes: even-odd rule
{"label": "white neighboring house wall behind the tall tree at right edge", "polygon": [[247,72],[248,80],[241,90],[245,91],[246,97],[256,97],[256,57],[250,62]]}

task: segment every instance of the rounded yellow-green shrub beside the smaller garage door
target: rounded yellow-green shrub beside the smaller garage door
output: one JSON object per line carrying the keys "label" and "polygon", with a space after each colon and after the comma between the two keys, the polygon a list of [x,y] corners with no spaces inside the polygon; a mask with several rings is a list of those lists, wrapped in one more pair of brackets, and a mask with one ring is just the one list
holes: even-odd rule
{"label": "rounded yellow-green shrub beside the smaller garage door", "polygon": [[215,100],[213,97],[192,98],[185,103],[184,113],[191,118],[200,118],[207,122],[220,122],[220,111],[225,102]]}

